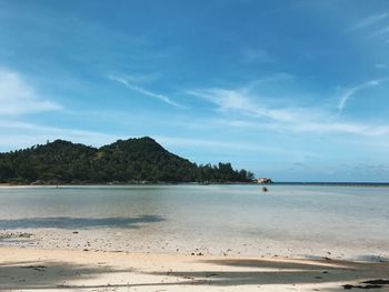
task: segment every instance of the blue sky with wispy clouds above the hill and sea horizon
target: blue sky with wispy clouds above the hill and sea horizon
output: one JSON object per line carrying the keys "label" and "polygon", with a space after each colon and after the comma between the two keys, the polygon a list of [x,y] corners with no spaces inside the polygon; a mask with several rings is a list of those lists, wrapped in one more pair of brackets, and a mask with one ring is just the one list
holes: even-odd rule
{"label": "blue sky with wispy clouds above the hill and sea horizon", "polygon": [[0,0],[0,151],[152,137],[275,181],[389,181],[386,0]]}

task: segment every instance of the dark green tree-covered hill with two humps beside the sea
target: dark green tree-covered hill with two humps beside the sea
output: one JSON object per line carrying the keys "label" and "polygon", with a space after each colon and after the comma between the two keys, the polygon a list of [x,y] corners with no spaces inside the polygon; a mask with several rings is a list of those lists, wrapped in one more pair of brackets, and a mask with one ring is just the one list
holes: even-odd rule
{"label": "dark green tree-covered hill with two humps beside the sea", "polygon": [[197,165],[153,139],[118,140],[99,149],[69,141],[0,153],[0,182],[139,183],[250,182],[253,174],[230,163]]}

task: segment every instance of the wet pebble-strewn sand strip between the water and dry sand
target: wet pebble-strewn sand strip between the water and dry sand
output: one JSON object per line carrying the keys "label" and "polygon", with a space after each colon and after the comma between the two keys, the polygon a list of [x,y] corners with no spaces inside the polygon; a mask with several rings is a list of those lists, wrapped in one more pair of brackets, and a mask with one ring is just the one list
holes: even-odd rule
{"label": "wet pebble-strewn sand strip between the water and dry sand", "polygon": [[[29,219],[23,219],[28,221]],[[33,221],[36,219],[31,219]],[[50,221],[50,219],[40,219]],[[36,220],[37,221],[37,220]],[[50,223],[50,222],[49,222]],[[149,226],[147,226],[149,228]],[[389,259],[388,241],[377,243],[369,238],[337,243],[311,239],[272,240],[268,238],[218,238],[212,234],[187,232],[186,236],[173,230],[160,232],[142,228],[29,228],[0,230],[0,244],[14,248],[60,249],[90,251],[122,251],[130,253],[172,253],[190,255],[202,253],[215,256],[258,256],[258,258],[325,258],[333,260],[368,260],[380,261]],[[362,238],[362,236],[361,236]]]}

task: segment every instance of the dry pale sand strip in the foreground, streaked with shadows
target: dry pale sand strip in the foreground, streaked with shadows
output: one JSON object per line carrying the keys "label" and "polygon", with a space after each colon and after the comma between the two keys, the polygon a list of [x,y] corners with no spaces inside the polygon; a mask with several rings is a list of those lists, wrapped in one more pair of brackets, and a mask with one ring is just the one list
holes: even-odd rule
{"label": "dry pale sand strip in the foreground, streaked with shadows", "polygon": [[0,248],[1,291],[389,291],[369,280],[389,262]]}

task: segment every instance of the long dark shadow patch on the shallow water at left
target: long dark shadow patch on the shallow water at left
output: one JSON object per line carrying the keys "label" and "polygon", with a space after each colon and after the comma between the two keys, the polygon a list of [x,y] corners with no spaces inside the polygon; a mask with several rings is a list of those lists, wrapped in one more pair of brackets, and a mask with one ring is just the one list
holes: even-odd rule
{"label": "long dark shadow patch on the shallow water at left", "polygon": [[57,228],[57,229],[89,229],[89,228],[123,228],[134,229],[142,223],[156,223],[163,221],[159,215],[141,215],[134,218],[23,218],[12,220],[0,220],[0,229],[37,229],[37,228]]}

